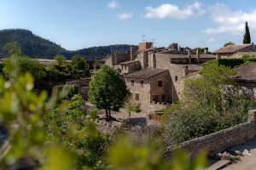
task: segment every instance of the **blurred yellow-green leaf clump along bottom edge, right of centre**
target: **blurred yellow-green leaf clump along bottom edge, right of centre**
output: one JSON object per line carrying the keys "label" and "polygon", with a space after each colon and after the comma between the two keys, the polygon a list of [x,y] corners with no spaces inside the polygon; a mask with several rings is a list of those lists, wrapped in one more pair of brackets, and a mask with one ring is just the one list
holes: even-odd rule
{"label": "blurred yellow-green leaf clump along bottom edge, right of centre", "polygon": [[207,165],[207,152],[202,151],[195,160],[183,150],[175,150],[172,161],[166,161],[160,141],[146,139],[145,144],[137,145],[131,137],[121,137],[108,152],[109,169],[120,170],[202,170]]}

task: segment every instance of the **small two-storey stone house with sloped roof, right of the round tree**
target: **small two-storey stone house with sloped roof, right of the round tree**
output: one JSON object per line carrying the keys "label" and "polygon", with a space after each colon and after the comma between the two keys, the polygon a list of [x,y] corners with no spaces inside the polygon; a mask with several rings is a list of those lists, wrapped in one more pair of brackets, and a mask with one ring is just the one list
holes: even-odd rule
{"label": "small two-storey stone house with sloped roof, right of the round tree", "polygon": [[131,94],[143,110],[154,111],[160,108],[156,105],[172,103],[172,80],[168,70],[143,69],[124,77]]}

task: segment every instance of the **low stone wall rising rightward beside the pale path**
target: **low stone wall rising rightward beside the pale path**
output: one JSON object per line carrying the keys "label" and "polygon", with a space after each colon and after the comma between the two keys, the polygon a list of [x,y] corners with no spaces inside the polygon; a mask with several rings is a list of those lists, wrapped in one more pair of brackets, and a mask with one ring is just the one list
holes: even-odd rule
{"label": "low stone wall rising rightward beside the pale path", "polygon": [[[200,150],[218,153],[238,144],[244,144],[247,140],[256,136],[256,110],[249,111],[248,122],[241,123],[200,138],[192,139],[181,144],[181,147],[194,157]],[[166,152],[170,158],[172,151]]]}

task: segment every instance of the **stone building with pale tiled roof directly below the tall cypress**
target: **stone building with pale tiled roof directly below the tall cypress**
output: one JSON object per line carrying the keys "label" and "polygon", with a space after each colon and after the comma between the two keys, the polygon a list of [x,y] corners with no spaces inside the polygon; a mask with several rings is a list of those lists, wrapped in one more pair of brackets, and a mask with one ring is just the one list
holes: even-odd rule
{"label": "stone building with pale tiled roof directly below the tall cypress", "polygon": [[228,45],[218,49],[214,54],[216,54],[218,58],[230,58],[230,56],[239,52],[256,52],[256,46],[253,43]]}

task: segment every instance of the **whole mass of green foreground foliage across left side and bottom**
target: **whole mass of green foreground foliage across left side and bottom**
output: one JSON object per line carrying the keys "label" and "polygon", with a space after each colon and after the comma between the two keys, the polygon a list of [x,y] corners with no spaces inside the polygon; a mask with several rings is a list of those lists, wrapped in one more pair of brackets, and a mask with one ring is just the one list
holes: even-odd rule
{"label": "whole mass of green foreground foliage across left side and bottom", "polygon": [[44,91],[35,93],[32,75],[17,71],[16,58],[4,65],[10,78],[0,77],[1,128],[8,131],[0,146],[0,169],[194,170],[205,166],[205,155],[189,161],[178,154],[168,162],[160,143],[148,140],[138,145],[100,133],[88,120],[80,95],[67,99],[65,89],[54,90],[50,98]]}

